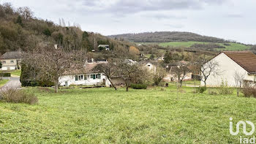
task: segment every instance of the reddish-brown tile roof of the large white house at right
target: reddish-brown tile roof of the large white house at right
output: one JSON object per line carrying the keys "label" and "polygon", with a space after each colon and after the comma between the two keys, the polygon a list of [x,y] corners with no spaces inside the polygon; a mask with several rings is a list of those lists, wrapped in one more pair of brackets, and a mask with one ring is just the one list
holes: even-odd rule
{"label": "reddish-brown tile roof of the large white house at right", "polygon": [[256,55],[251,51],[224,51],[223,53],[250,74],[256,74]]}

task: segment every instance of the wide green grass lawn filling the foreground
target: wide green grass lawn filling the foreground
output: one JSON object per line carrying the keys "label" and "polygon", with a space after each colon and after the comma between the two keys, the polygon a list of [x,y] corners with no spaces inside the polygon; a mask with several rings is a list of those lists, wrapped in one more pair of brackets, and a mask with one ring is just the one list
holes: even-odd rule
{"label": "wide green grass lawn filling the foreground", "polygon": [[[256,124],[256,99],[194,88],[27,88],[37,105],[0,102],[1,143],[239,143],[229,119]],[[234,126],[235,127],[235,126]],[[246,129],[249,132],[250,129]],[[240,135],[242,135],[240,133]]]}

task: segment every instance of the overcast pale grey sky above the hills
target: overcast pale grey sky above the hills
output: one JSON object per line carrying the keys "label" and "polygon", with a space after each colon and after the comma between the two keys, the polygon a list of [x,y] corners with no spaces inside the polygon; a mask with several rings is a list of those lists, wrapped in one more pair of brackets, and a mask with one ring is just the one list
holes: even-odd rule
{"label": "overcast pale grey sky above the hills", "polygon": [[[0,0],[1,4],[8,0]],[[255,0],[9,0],[37,18],[79,23],[103,35],[190,31],[256,43]]]}

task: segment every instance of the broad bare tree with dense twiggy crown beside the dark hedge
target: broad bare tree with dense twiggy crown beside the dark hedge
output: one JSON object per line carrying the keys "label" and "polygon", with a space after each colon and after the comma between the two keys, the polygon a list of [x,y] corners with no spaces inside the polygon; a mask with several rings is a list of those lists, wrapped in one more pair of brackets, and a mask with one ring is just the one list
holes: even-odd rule
{"label": "broad bare tree with dense twiggy crown beside the dark hedge", "polygon": [[[83,69],[85,64],[85,53],[82,51],[67,51],[62,48],[41,47],[27,53],[23,63],[37,68],[39,80],[50,80],[55,84],[55,92],[58,93],[59,77]],[[33,77],[33,76],[31,76]]]}

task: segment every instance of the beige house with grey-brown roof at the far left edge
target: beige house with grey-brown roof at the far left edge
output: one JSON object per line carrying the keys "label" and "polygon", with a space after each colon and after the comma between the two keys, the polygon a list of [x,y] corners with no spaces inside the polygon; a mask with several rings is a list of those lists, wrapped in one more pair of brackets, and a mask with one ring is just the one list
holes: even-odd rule
{"label": "beige house with grey-brown roof at the far left edge", "polygon": [[2,64],[1,70],[20,69],[20,62],[23,59],[23,53],[20,51],[10,51],[0,57]]}

